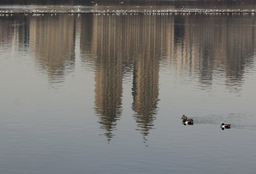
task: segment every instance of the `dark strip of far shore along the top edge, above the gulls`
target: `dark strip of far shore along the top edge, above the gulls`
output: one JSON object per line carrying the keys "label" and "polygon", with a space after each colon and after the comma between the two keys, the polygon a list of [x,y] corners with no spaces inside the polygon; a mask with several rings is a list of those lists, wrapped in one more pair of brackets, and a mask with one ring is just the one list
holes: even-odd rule
{"label": "dark strip of far shore along the top edge, above the gulls", "polygon": [[174,6],[249,6],[255,5],[255,0],[195,0],[195,1],[184,1],[184,0],[6,0],[0,1],[2,5],[29,5],[29,4],[42,4],[42,5],[174,5]]}

